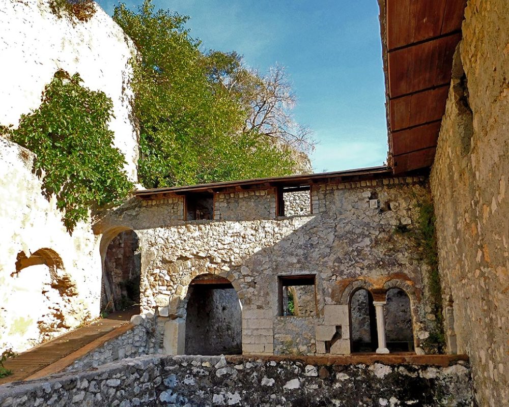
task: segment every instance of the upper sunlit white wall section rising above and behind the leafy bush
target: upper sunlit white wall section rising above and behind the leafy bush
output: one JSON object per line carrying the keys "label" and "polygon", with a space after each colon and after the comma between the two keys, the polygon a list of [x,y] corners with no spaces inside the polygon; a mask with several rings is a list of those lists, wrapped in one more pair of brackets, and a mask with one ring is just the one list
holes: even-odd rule
{"label": "upper sunlit white wall section rising above and behind the leafy bush", "polygon": [[103,91],[113,101],[115,117],[109,128],[114,145],[125,156],[128,177],[137,182],[137,132],[133,124],[128,85],[132,41],[98,5],[87,22],[56,17],[49,0],[5,0],[0,10],[0,124],[18,125],[23,113],[41,104],[41,92],[63,69],[79,73],[83,85]]}

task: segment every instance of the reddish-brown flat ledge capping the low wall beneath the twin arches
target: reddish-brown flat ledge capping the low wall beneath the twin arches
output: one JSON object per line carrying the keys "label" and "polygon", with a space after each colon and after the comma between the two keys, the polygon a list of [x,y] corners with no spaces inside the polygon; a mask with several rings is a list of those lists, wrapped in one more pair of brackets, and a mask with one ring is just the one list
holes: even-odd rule
{"label": "reddish-brown flat ledge capping the low wall beneath the twin arches", "polygon": [[267,354],[245,354],[245,355],[227,355],[226,360],[232,363],[242,363],[249,359],[259,359],[266,361],[302,361],[309,365],[372,365],[382,363],[384,365],[417,365],[417,366],[440,366],[448,367],[459,361],[468,362],[467,355],[416,355],[414,353],[394,353],[379,355],[376,353],[363,353],[337,356],[315,356],[315,355],[267,355]]}

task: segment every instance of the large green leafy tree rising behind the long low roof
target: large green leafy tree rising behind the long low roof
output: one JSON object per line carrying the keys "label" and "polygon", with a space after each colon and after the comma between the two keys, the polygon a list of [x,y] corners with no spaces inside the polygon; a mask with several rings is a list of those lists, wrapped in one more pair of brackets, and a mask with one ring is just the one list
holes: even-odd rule
{"label": "large green leafy tree rising behind the long low roof", "polygon": [[[155,11],[150,0],[137,12],[120,5],[114,19],[138,50],[133,107],[140,130],[138,176],[146,187],[292,173],[291,152],[261,126],[246,126],[247,90],[259,78],[241,67],[237,54],[205,55],[185,28],[188,17]],[[228,82],[240,78],[246,79],[236,87]]]}

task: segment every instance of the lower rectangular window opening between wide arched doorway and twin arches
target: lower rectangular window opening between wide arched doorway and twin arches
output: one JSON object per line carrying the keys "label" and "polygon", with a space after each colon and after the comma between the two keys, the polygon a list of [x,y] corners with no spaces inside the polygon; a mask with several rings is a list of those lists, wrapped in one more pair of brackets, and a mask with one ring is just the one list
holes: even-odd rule
{"label": "lower rectangular window opening between wide arched doorway and twin arches", "polygon": [[316,316],[314,275],[279,276],[279,315]]}

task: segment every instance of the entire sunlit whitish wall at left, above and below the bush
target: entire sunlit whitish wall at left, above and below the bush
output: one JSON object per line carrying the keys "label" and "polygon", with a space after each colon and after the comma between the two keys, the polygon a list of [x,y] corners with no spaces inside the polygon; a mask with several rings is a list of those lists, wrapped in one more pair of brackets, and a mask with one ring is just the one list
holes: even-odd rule
{"label": "entire sunlit whitish wall at left, above and below the bush", "polygon": [[[126,157],[128,176],[136,181],[136,130],[127,85],[134,46],[99,7],[90,21],[73,24],[54,16],[48,3],[4,0],[0,7],[0,124],[17,125],[22,113],[36,109],[56,70],[78,72],[84,86],[112,99],[115,119],[109,126]],[[26,350],[98,316],[100,309],[98,238],[90,223],[68,234],[55,200],[41,194],[33,160],[29,151],[0,137],[0,352]],[[15,273],[19,253],[30,257],[41,249],[58,260],[58,267],[37,265]],[[26,280],[32,280],[30,286]],[[58,292],[64,291],[61,282],[72,288],[65,295]]]}

